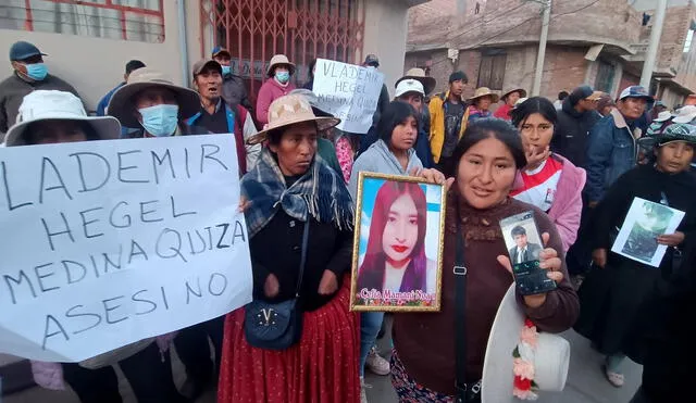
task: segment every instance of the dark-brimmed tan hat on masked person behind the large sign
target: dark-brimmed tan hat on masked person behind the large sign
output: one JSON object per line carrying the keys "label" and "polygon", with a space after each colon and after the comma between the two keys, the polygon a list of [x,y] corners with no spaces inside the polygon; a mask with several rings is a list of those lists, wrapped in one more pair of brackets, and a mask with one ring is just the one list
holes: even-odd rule
{"label": "dark-brimmed tan hat on masked person behind the large sign", "polygon": [[175,85],[164,73],[150,67],[142,67],[130,73],[126,85],[113,93],[107,112],[117,118],[123,126],[140,127],[140,123],[134,114],[133,97],[144,89],[152,87],[163,87],[176,95],[179,121],[191,117],[200,111],[198,92]]}

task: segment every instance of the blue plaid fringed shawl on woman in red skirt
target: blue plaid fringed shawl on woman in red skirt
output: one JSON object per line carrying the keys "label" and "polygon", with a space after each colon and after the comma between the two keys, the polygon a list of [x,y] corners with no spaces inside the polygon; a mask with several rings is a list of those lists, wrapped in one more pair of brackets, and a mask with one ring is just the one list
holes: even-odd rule
{"label": "blue plaid fringed shawl on woman in red skirt", "polygon": [[277,162],[268,148],[257,165],[241,178],[241,194],[251,203],[245,212],[249,236],[257,235],[275,216],[278,206],[287,215],[320,223],[334,223],[339,229],[352,229],[355,207],[343,178],[319,156],[289,188]]}

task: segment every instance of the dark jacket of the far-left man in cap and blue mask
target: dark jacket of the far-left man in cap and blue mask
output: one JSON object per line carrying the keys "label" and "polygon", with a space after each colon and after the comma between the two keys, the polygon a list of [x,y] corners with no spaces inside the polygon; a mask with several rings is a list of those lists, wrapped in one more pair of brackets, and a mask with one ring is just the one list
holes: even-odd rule
{"label": "dark jacket of the far-left man in cap and blue mask", "polygon": [[79,98],[73,86],[53,75],[49,74],[40,81],[29,83],[20,78],[15,72],[0,83],[0,141],[4,141],[4,134],[15,124],[24,97],[37,89],[72,92]]}

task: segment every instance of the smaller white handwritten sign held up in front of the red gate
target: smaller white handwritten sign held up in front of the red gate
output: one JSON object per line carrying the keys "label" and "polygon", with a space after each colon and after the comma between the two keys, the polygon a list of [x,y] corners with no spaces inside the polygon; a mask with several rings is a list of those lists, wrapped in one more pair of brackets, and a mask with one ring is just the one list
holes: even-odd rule
{"label": "smaller white handwritten sign held up in front of the red gate", "polygon": [[316,60],[314,87],[319,108],[341,119],[340,130],[366,134],[377,110],[384,74],[333,60]]}

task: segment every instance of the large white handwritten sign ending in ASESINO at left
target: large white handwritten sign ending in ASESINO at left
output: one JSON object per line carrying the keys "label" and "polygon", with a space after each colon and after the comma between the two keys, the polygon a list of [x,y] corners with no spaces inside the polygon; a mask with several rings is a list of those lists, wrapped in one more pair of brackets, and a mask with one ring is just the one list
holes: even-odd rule
{"label": "large white handwritten sign ending in ASESINO at left", "polygon": [[234,137],[0,149],[0,352],[78,362],[251,301]]}

